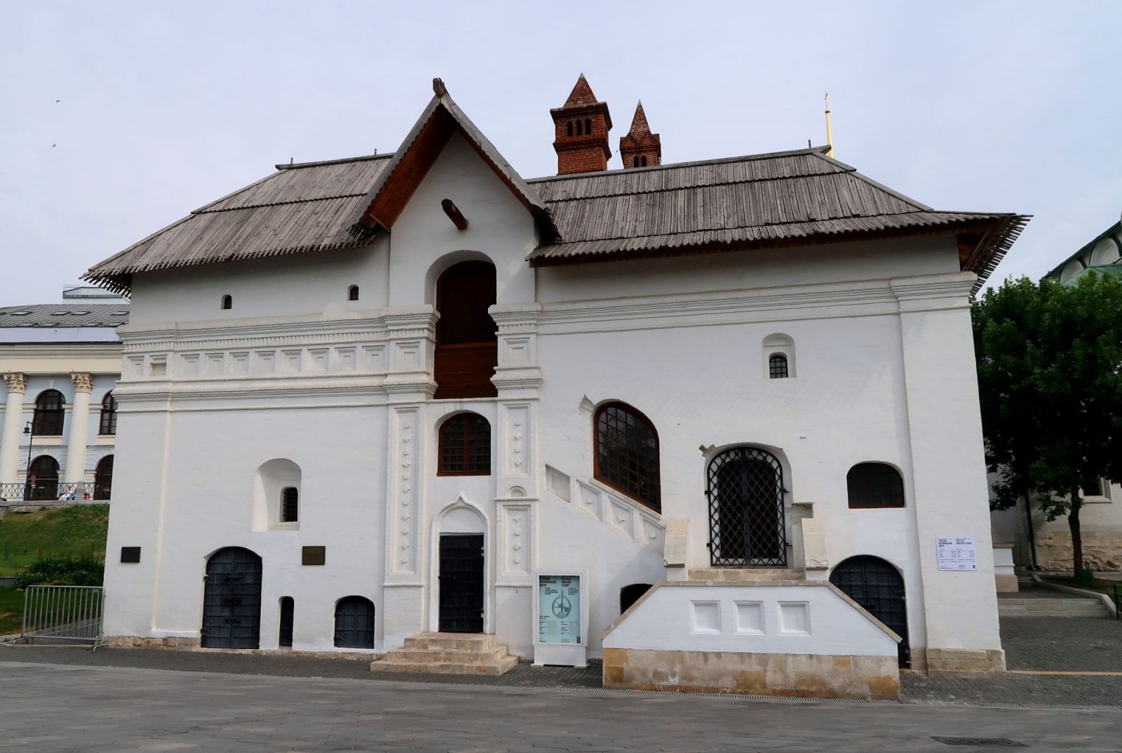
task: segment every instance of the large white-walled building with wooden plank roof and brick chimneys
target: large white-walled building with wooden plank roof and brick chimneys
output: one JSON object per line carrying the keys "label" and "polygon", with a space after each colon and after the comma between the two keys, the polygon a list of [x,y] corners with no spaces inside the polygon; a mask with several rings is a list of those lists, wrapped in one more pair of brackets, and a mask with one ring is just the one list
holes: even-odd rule
{"label": "large white-walled building with wooden plank roof and brick chimneys", "polygon": [[[90,270],[132,295],[110,640],[401,663],[478,632],[817,695],[891,695],[898,637],[1002,669],[968,303],[1023,218],[825,148],[660,165],[642,113],[607,171],[583,77],[526,181],[435,89],[396,153],[280,165]],[[540,571],[585,624],[535,612]]]}

